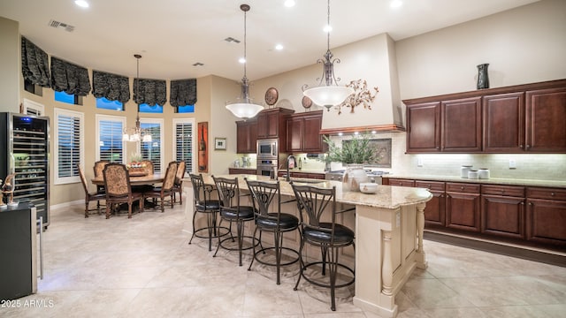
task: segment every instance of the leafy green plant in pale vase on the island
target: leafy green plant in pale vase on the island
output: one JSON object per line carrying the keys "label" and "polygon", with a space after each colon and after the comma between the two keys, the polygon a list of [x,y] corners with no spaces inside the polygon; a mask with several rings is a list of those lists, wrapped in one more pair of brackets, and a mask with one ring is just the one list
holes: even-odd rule
{"label": "leafy green plant in pale vase on the island", "polygon": [[327,160],[346,165],[342,189],[345,191],[359,191],[359,185],[369,180],[363,170],[363,163],[374,163],[379,160],[378,152],[370,143],[371,134],[354,135],[348,142],[342,142],[342,147],[336,145],[328,136],[323,138],[328,145]]}

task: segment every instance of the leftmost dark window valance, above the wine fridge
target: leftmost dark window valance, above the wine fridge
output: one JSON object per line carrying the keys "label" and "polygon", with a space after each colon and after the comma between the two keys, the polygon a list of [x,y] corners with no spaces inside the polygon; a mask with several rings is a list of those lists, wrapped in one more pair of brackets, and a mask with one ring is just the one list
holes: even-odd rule
{"label": "leftmost dark window valance, above the wine fridge", "polygon": [[47,53],[21,37],[21,73],[34,85],[50,87],[50,64]]}

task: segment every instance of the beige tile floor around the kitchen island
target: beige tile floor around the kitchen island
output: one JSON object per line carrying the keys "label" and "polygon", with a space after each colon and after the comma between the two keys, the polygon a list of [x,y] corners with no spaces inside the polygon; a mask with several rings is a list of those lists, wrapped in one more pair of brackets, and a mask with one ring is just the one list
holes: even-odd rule
{"label": "beige tile floor around the kitchen island", "polygon": [[[0,317],[379,317],[352,304],[353,288],[332,312],[328,292],[304,281],[293,291],[294,266],[277,285],[270,268],[238,267],[236,253],[213,258],[203,239],[187,245],[179,205],[132,219],[82,211],[51,211],[38,292]],[[566,268],[429,240],[424,248],[428,269],[402,288],[398,317],[566,317]]]}

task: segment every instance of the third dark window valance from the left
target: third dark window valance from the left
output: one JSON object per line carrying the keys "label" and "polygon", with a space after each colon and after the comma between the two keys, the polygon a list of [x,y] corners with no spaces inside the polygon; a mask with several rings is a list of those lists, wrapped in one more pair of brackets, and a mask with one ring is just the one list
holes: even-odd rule
{"label": "third dark window valance from the left", "polygon": [[130,100],[130,82],[126,76],[108,72],[92,72],[92,95],[109,101],[126,103]]}

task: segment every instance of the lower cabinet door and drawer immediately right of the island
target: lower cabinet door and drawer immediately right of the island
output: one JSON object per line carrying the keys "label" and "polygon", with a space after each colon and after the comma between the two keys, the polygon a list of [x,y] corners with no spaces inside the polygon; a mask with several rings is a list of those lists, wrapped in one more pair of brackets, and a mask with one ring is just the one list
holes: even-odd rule
{"label": "lower cabinet door and drawer immediately right of the island", "polygon": [[446,224],[445,184],[440,181],[415,181],[416,187],[423,187],[432,193],[432,199],[424,207],[424,226],[444,227]]}

